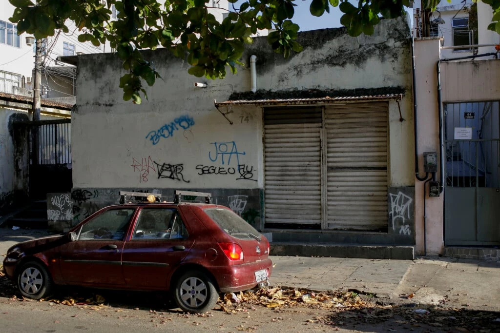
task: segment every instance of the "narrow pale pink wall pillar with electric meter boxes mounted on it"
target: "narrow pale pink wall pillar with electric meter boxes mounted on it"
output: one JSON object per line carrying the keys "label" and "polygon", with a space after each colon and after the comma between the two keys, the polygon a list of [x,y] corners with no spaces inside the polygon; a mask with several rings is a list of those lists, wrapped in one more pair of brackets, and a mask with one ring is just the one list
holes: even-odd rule
{"label": "narrow pale pink wall pillar with electric meter boxes mounted on it", "polygon": [[[423,172],[423,153],[437,152],[439,156],[439,119],[437,108],[436,63],[440,56],[439,38],[415,39],[417,148],[420,177]],[[439,166],[438,166],[439,168]],[[439,169],[438,169],[439,170]],[[423,198],[425,196],[425,218]],[[428,187],[415,180],[415,253],[438,255],[443,243],[443,195],[429,198]],[[425,223],[425,227],[424,227]],[[424,232],[425,230],[425,232]],[[425,235],[425,246],[424,246]]]}

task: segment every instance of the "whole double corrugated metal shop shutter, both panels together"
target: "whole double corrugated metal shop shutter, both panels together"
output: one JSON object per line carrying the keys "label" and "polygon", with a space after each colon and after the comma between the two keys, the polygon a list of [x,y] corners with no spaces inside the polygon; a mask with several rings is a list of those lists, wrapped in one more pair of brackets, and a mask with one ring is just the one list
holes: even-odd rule
{"label": "whole double corrugated metal shop shutter, both panels together", "polygon": [[265,108],[265,227],[386,230],[387,109]]}

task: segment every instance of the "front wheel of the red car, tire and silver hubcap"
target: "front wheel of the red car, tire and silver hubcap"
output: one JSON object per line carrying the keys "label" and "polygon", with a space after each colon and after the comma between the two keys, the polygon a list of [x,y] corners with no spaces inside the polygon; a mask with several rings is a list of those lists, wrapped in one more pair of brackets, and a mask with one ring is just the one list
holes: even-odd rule
{"label": "front wheel of the red car, tire and silver hubcap", "polygon": [[22,296],[39,300],[50,295],[52,279],[45,266],[35,261],[23,264],[17,274],[17,288]]}

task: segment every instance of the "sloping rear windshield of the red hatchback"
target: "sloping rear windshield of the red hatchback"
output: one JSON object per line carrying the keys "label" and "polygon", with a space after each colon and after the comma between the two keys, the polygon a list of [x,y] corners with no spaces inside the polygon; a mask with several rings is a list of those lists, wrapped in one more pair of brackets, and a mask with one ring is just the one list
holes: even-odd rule
{"label": "sloping rear windshield of the red hatchback", "polygon": [[231,210],[207,208],[204,210],[222,230],[238,239],[260,239],[260,233]]}

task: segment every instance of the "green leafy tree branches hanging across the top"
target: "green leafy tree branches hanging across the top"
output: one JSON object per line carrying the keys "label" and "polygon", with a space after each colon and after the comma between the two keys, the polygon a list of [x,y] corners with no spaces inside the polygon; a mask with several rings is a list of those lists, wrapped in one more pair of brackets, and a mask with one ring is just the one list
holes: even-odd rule
{"label": "green leafy tree branches hanging across the top", "polygon": [[[80,31],[78,40],[98,46],[109,41],[127,73],[119,81],[123,98],[140,103],[140,92],[147,98],[143,82],[151,86],[159,78],[154,64],[146,61],[141,49],[166,47],[191,65],[188,73],[215,79],[226,75],[226,68],[236,72],[242,65],[245,43],[251,43],[257,29],[273,29],[267,41],[275,52],[287,57],[300,52],[296,42],[299,26],[292,22],[295,0],[229,0],[232,10],[221,22],[208,12],[208,0],[9,0],[16,8],[10,20],[18,33],[36,38],[53,35],[58,29],[68,32],[68,21]],[[490,29],[500,33],[500,0],[483,0],[494,11]],[[435,9],[439,0],[425,0]],[[321,16],[338,6],[342,25],[352,36],[372,34],[380,17],[404,14],[410,0],[310,0],[309,10]],[[119,11],[111,19],[111,6]]]}

